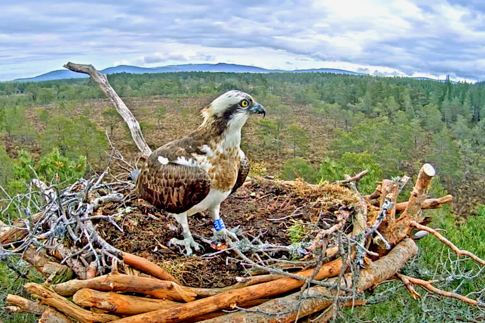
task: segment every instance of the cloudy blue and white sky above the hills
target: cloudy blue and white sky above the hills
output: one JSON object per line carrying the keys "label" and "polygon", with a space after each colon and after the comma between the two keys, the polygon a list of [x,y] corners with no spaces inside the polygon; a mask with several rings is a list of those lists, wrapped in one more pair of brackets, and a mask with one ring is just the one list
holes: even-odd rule
{"label": "cloudy blue and white sky above the hills", "polygon": [[0,0],[0,80],[67,61],[485,80],[485,1]]}

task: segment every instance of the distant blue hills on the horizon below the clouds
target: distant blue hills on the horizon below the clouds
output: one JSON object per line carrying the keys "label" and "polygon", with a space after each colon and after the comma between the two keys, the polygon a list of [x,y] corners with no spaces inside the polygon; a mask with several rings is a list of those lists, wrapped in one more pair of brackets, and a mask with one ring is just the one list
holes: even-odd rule
{"label": "distant blue hills on the horizon below the clouds", "polygon": [[[101,70],[104,74],[115,73],[165,73],[165,72],[235,72],[235,73],[281,73],[281,72],[320,72],[320,73],[336,73],[336,74],[351,74],[351,75],[364,75],[343,69],[334,68],[313,68],[313,69],[297,69],[297,70],[282,70],[282,69],[265,69],[257,66],[238,65],[238,64],[182,64],[182,65],[167,65],[160,67],[138,67],[131,65],[118,65],[115,67],[108,67]],[[17,79],[14,81],[19,82],[39,82],[39,81],[51,81],[62,79],[79,79],[87,78],[86,74],[76,73],[67,69],[54,70],[45,74],[33,78]]]}

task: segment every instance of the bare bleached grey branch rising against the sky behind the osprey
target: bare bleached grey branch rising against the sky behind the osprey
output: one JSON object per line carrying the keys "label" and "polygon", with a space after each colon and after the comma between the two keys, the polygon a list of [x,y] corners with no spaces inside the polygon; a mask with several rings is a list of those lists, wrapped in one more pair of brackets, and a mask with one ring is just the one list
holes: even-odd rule
{"label": "bare bleached grey branch rising against the sky behind the osprey", "polygon": [[64,67],[75,72],[89,74],[92,80],[98,83],[103,93],[105,93],[106,97],[109,98],[111,103],[116,108],[116,111],[118,111],[119,115],[122,116],[123,120],[125,120],[126,124],[128,125],[128,128],[130,128],[131,137],[133,138],[133,141],[138,147],[138,150],[140,151],[141,155],[144,157],[150,156],[150,154],[152,154],[152,150],[150,149],[147,142],[143,138],[140,124],[133,116],[133,113],[131,113],[131,111],[125,105],[123,100],[121,100],[118,94],[113,90],[113,88],[108,82],[108,78],[106,77],[106,74],[101,74],[92,65],[74,64],[69,62],[66,65],[64,65]]}

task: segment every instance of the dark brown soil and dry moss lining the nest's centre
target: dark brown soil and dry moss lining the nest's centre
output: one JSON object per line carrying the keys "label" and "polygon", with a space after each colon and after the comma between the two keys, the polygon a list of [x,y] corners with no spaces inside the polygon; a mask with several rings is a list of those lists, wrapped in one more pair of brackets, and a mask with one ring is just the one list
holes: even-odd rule
{"label": "dark brown soil and dry moss lining the nest's centre", "polygon": [[[257,179],[241,187],[221,205],[221,217],[228,228],[240,226],[245,237],[264,233],[261,239],[273,244],[291,244],[288,227],[291,218],[314,223],[320,215],[320,224],[332,225],[334,212],[342,206],[354,207],[357,197],[349,189],[338,184],[308,185],[298,182],[276,182]],[[128,210],[127,210],[128,207]],[[101,235],[120,250],[149,259],[165,268],[186,286],[223,287],[235,282],[237,276],[247,276],[247,270],[228,253],[212,259],[201,259],[202,252],[195,257],[185,257],[177,247],[167,248],[174,237],[181,239],[181,229],[175,218],[153,208],[147,203],[129,199],[126,205],[107,205],[104,214],[114,214],[120,208],[127,210],[116,222],[124,232],[117,231],[106,222],[100,223]],[[292,215],[293,214],[293,215]],[[278,219],[292,215],[289,218]],[[212,220],[203,212],[190,216],[192,233],[210,239]],[[350,230],[350,227],[348,228]],[[196,238],[196,240],[198,240]],[[200,241],[199,241],[200,242]],[[210,245],[201,243],[205,253],[215,252]],[[229,255],[236,257],[234,253]]]}

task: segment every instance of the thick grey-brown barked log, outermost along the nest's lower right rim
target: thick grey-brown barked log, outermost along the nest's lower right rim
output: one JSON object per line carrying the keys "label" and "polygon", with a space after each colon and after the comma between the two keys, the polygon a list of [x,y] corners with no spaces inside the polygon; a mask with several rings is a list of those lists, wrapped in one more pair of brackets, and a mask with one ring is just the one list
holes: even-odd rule
{"label": "thick grey-brown barked log, outermost along the nest's lower right rim", "polygon": [[[404,266],[409,258],[418,253],[418,248],[412,239],[404,239],[397,244],[386,256],[372,262],[367,269],[359,272],[357,282],[358,290],[366,290],[378,285],[386,279],[394,276]],[[336,282],[337,278],[331,278],[329,283]],[[341,284],[352,286],[352,277],[346,275]],[[305,292],[304,295],[306,295]],[[211,318],[200,323],[290,323],[294,322],[297,315],[306,315],[321,311],[330,306],[333,301],[329,296],[335,296],[334,291],[329,291],[324,286],[314,286],[308,289],[308,296],[301,299],[301,292],[290,294],[270,300],[260,306],[252,307],[253,312],[235,312],[216,318]],[[299,307],[299,304],[301,306]],[[256,311],[256,312],[254,312]],[[264,313],[283,313],[281,315],[268,315]],[[118,320],[119,322],[122,320]],[[162,321],[161,321],[162,322]]]}

